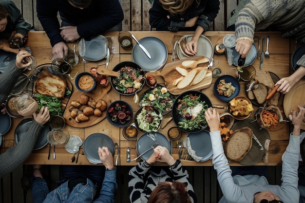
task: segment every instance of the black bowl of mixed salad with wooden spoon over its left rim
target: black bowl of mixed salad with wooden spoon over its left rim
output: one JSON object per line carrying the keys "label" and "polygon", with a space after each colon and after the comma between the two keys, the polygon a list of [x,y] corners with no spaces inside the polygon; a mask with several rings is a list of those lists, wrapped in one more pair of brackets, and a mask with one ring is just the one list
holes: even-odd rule
{"label": "black bowl of mixed salad with wooden spoon over its left rim", "polygon": [[117,77],[111,76],[111,86],[123,95],[134,95],[145,84],[145,71],[132,61],[117,64],[113,71],[120,72]]}

